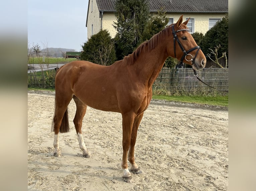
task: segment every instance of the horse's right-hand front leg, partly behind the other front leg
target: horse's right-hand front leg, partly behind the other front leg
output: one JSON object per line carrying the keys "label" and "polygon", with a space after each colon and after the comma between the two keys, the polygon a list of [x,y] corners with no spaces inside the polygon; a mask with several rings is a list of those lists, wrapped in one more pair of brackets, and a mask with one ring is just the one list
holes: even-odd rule
{"label": "horse's right-hand front leg, partly behind the other front leg", "polygon": [[137,131],[140,125],[140,121],[143,117],[144,112],[140,113],[137,115],[134,119],[133,127],[132,127],[132,134],[131,134],[131,141],[130,141],[130,148],[128,152],[128,160],[131,163],[131,172],[133,174],[140,174],[142,171],[140,170],[139,166],[135,163],[135,158],[134,158],[134,147],[136,143],[136,138],[137,138]]}

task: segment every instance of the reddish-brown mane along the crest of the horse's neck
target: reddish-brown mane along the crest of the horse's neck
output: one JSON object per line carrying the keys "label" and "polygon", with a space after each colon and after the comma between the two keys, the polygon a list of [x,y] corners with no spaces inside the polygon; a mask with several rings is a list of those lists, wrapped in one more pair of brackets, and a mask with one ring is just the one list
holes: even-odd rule
{"label": "reddish-brown mane along the crest of the horse's neck", "polygon": [[146,51],[146,48],[147,48],[147,51],[150,51],[153,48],[155,48],[155,46],[158,43],[161,43],[166,38],[166,36],[170,35],[170,32],[171,32],[171,27],[170,26],[171,25],[164,28],[159,33],[155,34],[148,41],[143,42],[135,51],[133,51],[132,54],[129,54],[128,56],[125,56],[124,59],[123,59],[123,63],[122,63],[123,66],[133,65],[136,58],[140,55],[140,53],[142,51]]}

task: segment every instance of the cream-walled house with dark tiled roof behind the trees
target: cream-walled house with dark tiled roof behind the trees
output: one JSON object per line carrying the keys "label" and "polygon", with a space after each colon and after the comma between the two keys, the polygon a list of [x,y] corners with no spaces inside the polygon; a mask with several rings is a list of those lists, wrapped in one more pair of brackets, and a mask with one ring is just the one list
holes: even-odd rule
{"label": "cream-walled house with dark tiled roof behind the trees", "polygon": [[[88,39],[101,29],[107,29],[112,36],[116,34],[113,27],[116,0],[89,0],[86,27]],[[149,0],[149,11],[156,14],[160,7],[164,7],[169,24],[176,23],[180,15],[183,20],[190,20],[187,24],[191,33],[205,34],[215,23],[228,13],[228,0]]]}

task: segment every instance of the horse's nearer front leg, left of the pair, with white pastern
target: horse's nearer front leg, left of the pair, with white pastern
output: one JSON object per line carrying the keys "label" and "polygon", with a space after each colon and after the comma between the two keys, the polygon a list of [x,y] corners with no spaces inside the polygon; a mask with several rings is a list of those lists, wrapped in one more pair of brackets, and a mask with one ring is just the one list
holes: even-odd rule
{"label": "horse's nearer front leg, left of the pair, with white pastern", "polygon": [[123,116],[123,158],[122,158],[122,169],[123,169],[123,179],[125,182],[133,182],[132,174],[128,169],[127,155],[130,148],[130,139],[132,133],[132,126],[135,114],[133,112],[122,114]]}

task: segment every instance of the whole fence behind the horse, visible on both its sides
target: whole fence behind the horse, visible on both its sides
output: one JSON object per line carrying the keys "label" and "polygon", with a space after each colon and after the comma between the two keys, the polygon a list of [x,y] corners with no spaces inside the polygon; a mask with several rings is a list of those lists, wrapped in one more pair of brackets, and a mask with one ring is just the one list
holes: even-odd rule
{"label": "whole fence behind the horse, visible on both its sides", "polygon": [[[28,73],[29,88],[54,88],[56,71]],[[228,68],[205,68],[198,71],[202,81],[210,86],[228,90]],[[155,80],[154,95],[227,95],[228,93],[215,90],[200,82],[194,76],[193,69],[163,68]]]}

